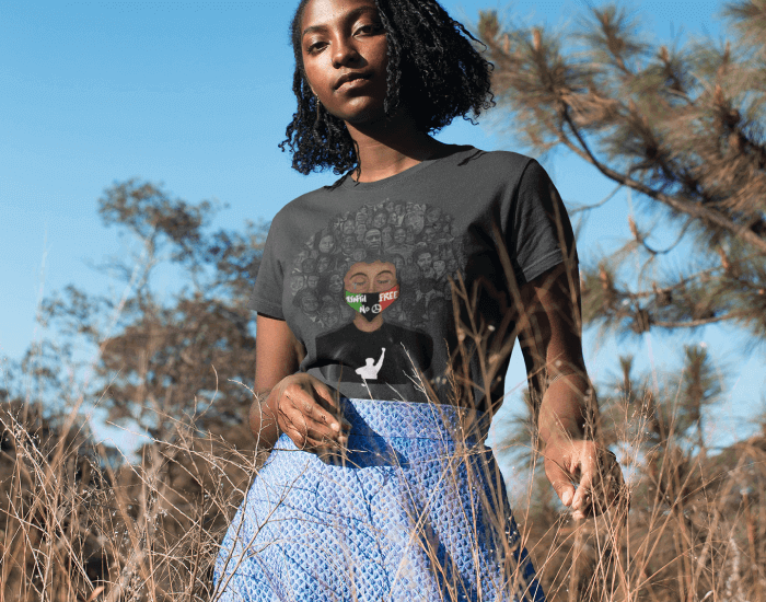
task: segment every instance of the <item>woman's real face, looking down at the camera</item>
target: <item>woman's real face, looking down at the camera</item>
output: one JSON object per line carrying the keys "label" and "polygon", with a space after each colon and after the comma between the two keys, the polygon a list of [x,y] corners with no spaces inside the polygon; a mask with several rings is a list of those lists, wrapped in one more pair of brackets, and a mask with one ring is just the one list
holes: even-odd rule
{"label": "woman's real face, looking down at the camera", "polygon": [[311,90],[332,115],[352,125],[385,116],[387,40],[374,0],[311,0],[301,53]]}

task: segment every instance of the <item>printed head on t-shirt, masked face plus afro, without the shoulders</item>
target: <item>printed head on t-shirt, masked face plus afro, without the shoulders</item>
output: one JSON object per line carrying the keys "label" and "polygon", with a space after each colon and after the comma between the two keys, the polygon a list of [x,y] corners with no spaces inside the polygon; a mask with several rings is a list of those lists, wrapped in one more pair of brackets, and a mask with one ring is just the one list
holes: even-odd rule
{"label": "printed head on t-shirt, masked face plus afro, without the shoulders", "polygon": [[[367,333],[382,332],[384,323],[423,328],[431,303],[451,302],[448,275],[456,271],[455,257],[463,262],[460,241],[444,233],[451,223],[438,207],[392,199],[317,223],[288,258],[293,306],[311,321],[306,333],[350,323]],[[349,299],[359,294],[367,297]]]}

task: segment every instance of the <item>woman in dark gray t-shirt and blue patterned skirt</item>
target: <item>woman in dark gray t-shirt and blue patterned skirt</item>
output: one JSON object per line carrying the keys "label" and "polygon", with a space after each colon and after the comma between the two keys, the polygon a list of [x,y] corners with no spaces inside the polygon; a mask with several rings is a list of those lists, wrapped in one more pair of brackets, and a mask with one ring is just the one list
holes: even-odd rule
{"label": "woman in dark gray t-shirt and blue patterned skirt", "polygon": [[[218,590],[543,600],[481,444],[517,335],[531,381],[546,386],[538,435],[564,505],[584,518],[615,497],[600,471],[622,482],[585,437],[560,198],[532,159],[430,136],[492,105],[490,66],[434,0],[303,0],[292,44],[293,166],[345,175],[271,224],[251,303],[249,425],[275,451],[227,534]],[[320,253],[332,269],[320,273]],[[310,277],[335,320],[295,302]]]}

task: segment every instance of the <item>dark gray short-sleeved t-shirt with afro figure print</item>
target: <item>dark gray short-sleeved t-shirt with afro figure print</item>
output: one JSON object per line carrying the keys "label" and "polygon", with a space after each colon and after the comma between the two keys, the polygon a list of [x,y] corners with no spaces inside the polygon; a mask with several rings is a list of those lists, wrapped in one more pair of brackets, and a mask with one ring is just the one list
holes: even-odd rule
{"label": "dark gray short-sleeved t-shirt with afro figure print", "polygon": [[[288,204],[271,222],[251,308],[286,320],[306,349],[301,370],[347,397],[425,402],[430,390],[441,403],[486,410],[484,392],[494,403],[503,394],[509,357],[484,383],[455,316],[489,347],[507,340],[513,302],[500,257],[521,286],[564,261],[561,240],[573,252],[539,163],[454,147],[395,176],[344,177]],[[451,280],[464,283],[473,310],[453,300]],[[474,386],[455,396],[465,378]]]}

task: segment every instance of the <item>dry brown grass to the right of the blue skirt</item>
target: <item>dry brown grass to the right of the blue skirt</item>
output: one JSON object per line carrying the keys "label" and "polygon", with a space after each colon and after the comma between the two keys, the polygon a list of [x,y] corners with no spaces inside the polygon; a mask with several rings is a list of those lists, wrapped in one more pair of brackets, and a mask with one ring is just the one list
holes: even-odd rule
{"label": "dry brown grass to the right of the blue skirt", "polygon": [[514,511],[548,599],[766,600],[764,435],[715,456],[672,432],[652,447],[623,445],[627,521],[616,512],[573,521],[537,474]]}

